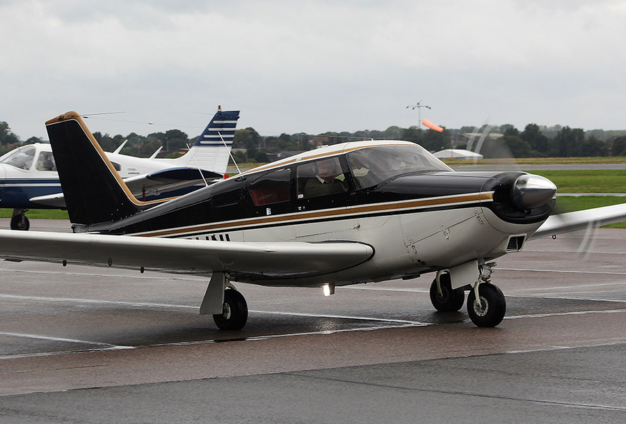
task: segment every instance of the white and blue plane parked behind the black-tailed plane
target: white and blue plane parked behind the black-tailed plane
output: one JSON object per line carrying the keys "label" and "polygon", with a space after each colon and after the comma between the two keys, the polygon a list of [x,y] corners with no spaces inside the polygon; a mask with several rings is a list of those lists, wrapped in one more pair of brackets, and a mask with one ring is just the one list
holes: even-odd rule
{"label": "white and blue plane parked behind the black-tailed plane", "polygon": [[[223,178],[238,118],[239,111],[218,108],[191,149],[177,159],[157,159],[161,148],[150,158],[122,155],[124,143],[106,155],[135,196],[181,194],[191,191],[194,184],[202,184],[203,178]],[[13,208],[13,230],[29,229],[29,219],[24,214],[29,209],[65,209],[50,144],[22,146],[0,157],[0,207]]]}

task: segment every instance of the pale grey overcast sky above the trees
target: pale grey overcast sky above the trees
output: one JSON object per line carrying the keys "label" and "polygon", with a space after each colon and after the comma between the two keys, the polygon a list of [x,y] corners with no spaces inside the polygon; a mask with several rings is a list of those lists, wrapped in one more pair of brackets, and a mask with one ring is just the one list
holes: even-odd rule
{"label": "pale grey overcast sky above the trees", "polygon": [[[0,0],[0,121],[47,139],[528,123],[626,129],[626,1]],[[147,123],[154,123],[148,125]]]}

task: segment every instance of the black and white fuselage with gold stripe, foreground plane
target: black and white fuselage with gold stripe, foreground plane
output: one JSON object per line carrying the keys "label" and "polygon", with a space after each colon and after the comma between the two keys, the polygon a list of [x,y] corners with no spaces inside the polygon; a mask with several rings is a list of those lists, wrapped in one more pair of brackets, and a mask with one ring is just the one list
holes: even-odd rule
{"label": "black and white fuselage with gold stripe, foreground plane", "polygon": [[[410,144],[370,147],[401,150],[402,157],[419,147]],[[361,164],[354,156],[332,148],[314,151],[310,157],[248,171],[120,221],[75,230],[227,242],[349,241],[374,248],[371,260],[332,274],[231,274],[234,281],[315,286],[414,278],[479,258],[491,260],[522,249],[549,215],[547,201],[531,209],[515,204],[513,187],[527,175],[519,171],[459,173],[440,162],[419,170],[382,170],[376,178],[357,168]],[[307,196],[305,185],[315,178],[311,170],[328,158],[337,162],[342,190]]]}

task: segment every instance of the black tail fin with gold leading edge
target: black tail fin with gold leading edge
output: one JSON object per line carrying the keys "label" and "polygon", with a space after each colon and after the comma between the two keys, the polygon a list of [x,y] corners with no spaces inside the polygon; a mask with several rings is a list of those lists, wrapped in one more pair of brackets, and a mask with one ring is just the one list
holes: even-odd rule
{"label": "black tail fin with gold leading edge", "polygon": [[76,112],[46,123],[70,221],[116,221],[142,209]]}

